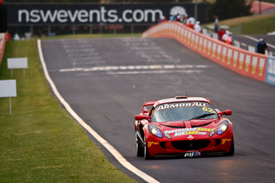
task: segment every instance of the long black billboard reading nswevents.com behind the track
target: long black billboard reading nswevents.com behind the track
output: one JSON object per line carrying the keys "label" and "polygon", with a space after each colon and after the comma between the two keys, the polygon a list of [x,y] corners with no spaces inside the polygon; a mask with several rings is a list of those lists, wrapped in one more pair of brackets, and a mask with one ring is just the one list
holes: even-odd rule
{"label": "long black billboard reading nswevents.com behind the track", "polygon": [[[157,23],[165,16],[193,16],[193,3],[158,4],[25,4],[7,3],[8,24],[87,24]],[[198,19],[203,23],[206,5],[198,4]]]}

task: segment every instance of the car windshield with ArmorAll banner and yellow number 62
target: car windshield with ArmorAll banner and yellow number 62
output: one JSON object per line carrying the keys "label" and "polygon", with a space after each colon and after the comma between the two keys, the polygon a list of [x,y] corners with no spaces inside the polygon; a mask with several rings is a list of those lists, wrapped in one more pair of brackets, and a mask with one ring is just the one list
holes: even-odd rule
{"label": "car windshield with ArmorAll banner and yellow number 62", "polygon": [[155,110],[153,110],[151,115],[152,122],[217,118],[217,112],[210,103],[201,101],[161,104],[155,107]]}

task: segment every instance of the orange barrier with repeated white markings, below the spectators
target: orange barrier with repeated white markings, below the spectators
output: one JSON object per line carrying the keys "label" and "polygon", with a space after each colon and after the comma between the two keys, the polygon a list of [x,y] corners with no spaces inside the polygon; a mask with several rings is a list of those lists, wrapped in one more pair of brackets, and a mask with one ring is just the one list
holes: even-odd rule
{"label": "orange barrier with repeated white markings, below the spectators", "polygon": [[182,23],[159,23],[144,32],[142,37],[173,38],[201,56],[236,73],[265,82],[267,56],[225,44],[225,42],[195,32]]}

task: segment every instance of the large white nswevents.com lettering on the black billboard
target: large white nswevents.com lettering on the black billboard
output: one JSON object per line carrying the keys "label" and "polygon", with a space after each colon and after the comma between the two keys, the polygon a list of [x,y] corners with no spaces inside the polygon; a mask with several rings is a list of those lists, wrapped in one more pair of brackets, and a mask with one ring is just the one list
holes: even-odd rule
{"label": "large white nswevents.com lettering on the black billboard", "polygon": [[148,21],[155,22],[162,16],[163,12],[159,9],[126,9],[119,17],[118,10],[108,10],[104,6],[91,10],[18,10],[19,23],[139,23]]}

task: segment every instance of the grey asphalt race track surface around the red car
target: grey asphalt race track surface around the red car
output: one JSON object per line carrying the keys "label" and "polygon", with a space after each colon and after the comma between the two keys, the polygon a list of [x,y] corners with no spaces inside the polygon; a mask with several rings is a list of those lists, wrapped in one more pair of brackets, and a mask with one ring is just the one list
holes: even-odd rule
{"label": "grey asphalt race track surface around the red car", "polygon": [[[42,48],[52,80],[76,113],[159,182],[275,181],[275,86],[238,75],[169,38],[43,40]],[[235,155],[137,158],[134,115],[144,101],[186,92],[232,110]]]}

